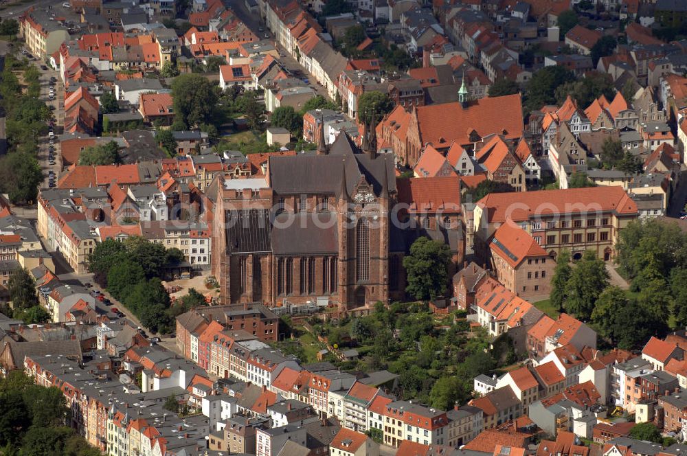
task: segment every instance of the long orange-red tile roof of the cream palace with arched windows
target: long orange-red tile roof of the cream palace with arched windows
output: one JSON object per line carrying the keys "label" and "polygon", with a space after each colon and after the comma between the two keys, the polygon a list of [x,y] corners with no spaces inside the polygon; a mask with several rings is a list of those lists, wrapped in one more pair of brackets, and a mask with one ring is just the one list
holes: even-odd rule
{"label": "long orange-red tile roof of the cream palace with arched windows", "polygon": [[491,193],[477,205],[488,210],[488,222],[505,222],[506,215],[515,222],[530,216],[579,214],[594,210],[613,211],[618,215],[637,214],[637,205],[622,187],[587,187],[536,192]]}

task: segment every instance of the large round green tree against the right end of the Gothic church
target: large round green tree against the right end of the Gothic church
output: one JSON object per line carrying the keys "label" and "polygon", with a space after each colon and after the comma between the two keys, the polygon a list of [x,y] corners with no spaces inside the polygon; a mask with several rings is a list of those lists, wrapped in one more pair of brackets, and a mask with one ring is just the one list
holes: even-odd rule
{"label": "large round green tree against the right end of the Gothic church", "polygon": [[406,291],[416,299],[434,299],[446,293],[451,251],[443,242],[420,237],[403,258],[407,273]]}

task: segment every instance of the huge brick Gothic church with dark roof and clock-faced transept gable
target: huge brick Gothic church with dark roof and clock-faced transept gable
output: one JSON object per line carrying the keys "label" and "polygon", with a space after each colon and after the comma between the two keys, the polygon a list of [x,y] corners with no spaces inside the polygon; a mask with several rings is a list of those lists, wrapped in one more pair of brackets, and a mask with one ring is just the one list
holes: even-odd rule
{"label": "huge brick Gothic church with dark roof and clock-faced transept gable", "polygon": [[403,297],[403,255],[417,236],[462,254],[460,209],[448,229],[392,223],[394,155],[377,154],[367,129],[361,148],[346,133],[327,148],[318,133],[316,154],[270,157],[265,178],[216,184],[212,266],[224,302],[324,301],[346,312]]}

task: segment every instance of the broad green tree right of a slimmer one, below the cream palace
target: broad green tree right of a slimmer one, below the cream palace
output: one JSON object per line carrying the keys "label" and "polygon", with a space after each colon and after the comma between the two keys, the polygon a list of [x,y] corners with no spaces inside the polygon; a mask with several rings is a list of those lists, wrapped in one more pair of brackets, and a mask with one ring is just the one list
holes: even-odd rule
{"label": "broad green tree right of a slimmer one, below the cream palace", "polygon": [[609,273],[603,260],[596,258],[594,251],[585,251],[565,286],[565,310],[578,319],[589,320],[596,299],[608,284]]}

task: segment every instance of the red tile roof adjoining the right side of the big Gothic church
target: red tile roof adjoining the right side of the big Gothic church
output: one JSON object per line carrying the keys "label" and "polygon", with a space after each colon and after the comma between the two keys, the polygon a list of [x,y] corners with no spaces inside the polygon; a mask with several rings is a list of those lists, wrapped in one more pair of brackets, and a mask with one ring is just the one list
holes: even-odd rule
{"label": "red tile roof adjoining the right side of the big Gothic church", "polygon": [[414,177],[396,179],[398,202],[409,212],[460,212],[458,176]]}

